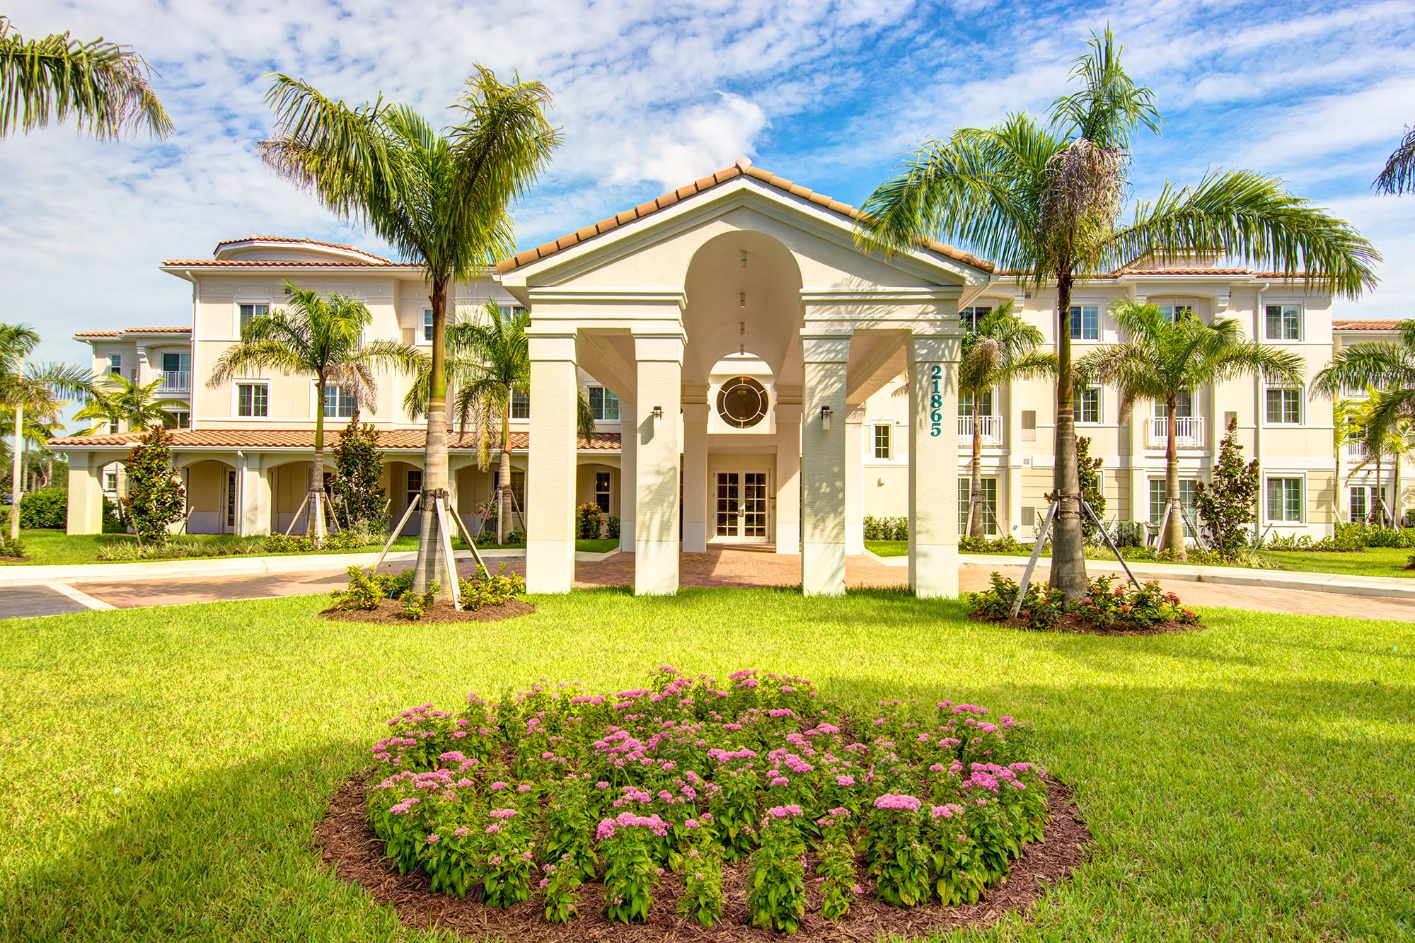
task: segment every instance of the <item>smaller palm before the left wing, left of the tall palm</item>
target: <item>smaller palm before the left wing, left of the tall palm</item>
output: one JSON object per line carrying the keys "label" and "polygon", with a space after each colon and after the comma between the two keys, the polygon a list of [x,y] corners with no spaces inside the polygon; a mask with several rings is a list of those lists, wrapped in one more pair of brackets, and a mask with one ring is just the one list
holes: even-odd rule
{"label": "smaller palm before the left wing, left of the tall palm", "polygon": [[324,537],[324,402],[325,391],[344,389],[357,408],[374,409],[378,384],[374,371],[386,367],[417,371],[423,360],[413,347],[386,340],[364,340],[374,321],[364,302],[330,292],[284,283],[286,307],[250,319],[241,340],[211,367],[208,387],[221,387],[249,370],[284,370],[314,377],[314,467],[306,534]]}

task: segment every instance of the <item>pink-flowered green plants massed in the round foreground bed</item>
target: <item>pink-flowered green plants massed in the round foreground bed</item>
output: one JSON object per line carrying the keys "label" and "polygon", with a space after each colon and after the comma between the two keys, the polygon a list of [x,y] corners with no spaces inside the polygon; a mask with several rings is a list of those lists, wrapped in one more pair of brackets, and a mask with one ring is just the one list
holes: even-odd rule
{"label": "pink-flowered green plants massed in the round foreground bed", "polygon": [[668,909],[794,932],[865,909],[879,926],[880,903],[979,901],[1049,817],[1012,718],[894,701],[856,722],[808,681],[753,671],[536,685],[389,726],[368,817],[398,871],[550,923]]}

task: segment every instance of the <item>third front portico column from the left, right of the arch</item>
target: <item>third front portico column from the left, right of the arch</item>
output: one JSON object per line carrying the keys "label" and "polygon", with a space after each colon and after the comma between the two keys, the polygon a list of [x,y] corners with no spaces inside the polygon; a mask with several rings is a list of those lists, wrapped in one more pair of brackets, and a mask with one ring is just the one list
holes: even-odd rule
{"label": "third front portico column from the left, right of the arch", "polygon": [[[849,334],[802,336],[801,590],[845,593],[845,364]],[[829,429],[824,411],[829,411]]]}

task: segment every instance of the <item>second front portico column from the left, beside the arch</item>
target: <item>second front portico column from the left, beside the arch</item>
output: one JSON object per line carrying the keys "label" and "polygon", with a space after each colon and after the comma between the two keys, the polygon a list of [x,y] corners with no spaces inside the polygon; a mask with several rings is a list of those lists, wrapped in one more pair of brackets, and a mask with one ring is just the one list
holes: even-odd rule
{"label": "second front portico column from the left, beside the arch", "polygon": [[634,593],[678,592],[678,430],[683,336],[635,334],[640,439],[635,455]]}

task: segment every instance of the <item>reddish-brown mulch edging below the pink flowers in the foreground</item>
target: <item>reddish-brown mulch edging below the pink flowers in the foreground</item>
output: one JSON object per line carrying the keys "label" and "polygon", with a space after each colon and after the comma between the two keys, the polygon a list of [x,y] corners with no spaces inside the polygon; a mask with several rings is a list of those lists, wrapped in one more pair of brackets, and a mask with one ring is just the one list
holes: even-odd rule
{"label": "reddish-brown mulch edging below the pink flowers in the foreground", "polygon": [[[819,895],[808,876],[808,906],[801,929],[794,936],[768,933],[747,925],[744,861],[724,865],[723,891],[727,895],[722,920],[706,929],[696,920],[678,916],[682,878],[665,874],[654,886],[654,908],[647,923],[617,923],[604,915],[600,884],[580,886],[580,915],[566,925],[545,920],[545,905],[536,899],[505,910],[488,908],[468,896],[460,901],[447,893],[433,893],[422,871],[400,875],[383,857],[383,842],[368,823],[364,776],[350,779],[335,793],[330,810],[314,828],[314,841],[325,862],[350,884],[362,886],[378,903],[392,905],[399,920],[415,929],[451,929],[473,939],[535,940],[569,943],[572,940],[614,940],[616,943],[734,943],[740,940],[795,939],[859,940],[873,943],[880,935],[904,937],[927,936],[957,927],[986,927],[1005,913],[1026,912],[1047,886],[1065,881],[1084,857],[1091,833],[1081,821],[1071,790],[1047,779],[1050,820],[1040,844],[1027,845],[1012,862],[1009,879],[990,888],[978,903],[945,908],[938,903],[911,910],[893,908],[874,899],[874,884],[863,876],[863,889],[849,913],[835,923],[819,915]],[[808,872],[809,874],[809,872]]]}

